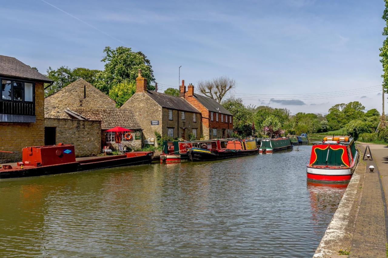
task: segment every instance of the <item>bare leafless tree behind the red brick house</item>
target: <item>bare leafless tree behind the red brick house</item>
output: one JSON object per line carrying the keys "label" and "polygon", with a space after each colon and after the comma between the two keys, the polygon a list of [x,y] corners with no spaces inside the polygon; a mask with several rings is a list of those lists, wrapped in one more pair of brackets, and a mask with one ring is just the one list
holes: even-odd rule
{"label": "bare leafless tree behind the red brick house", "polygon": [[227,76],[220,76],[211,80],[199,81],[199,92],[203,95],[221,103],[223,96],[230,90],[236,87],[236,81]]}

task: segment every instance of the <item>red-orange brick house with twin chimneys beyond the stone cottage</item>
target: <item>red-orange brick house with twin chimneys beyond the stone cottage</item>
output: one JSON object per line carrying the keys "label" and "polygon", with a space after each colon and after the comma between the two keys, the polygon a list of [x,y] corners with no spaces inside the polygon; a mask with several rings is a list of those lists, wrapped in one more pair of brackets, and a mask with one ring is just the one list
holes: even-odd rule
{"label": "red-orange brick house with twin chimneys beyond the stone cottage", "polygon": [[233,133],[233,115],[217,101],[194,93],[194,85],[179,86],[179,95],[201,111],[204,139],[229,138]]}

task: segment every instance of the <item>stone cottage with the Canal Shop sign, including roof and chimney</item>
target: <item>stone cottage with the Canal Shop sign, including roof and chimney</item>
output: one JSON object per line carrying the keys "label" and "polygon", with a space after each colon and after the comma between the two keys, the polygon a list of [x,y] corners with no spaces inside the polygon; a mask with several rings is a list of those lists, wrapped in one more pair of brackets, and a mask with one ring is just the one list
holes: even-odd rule
{"label": "stone cottage with the Canal Shop sign, including roof and chimney", "polygon": [[202,135],[201,113],[183,98],[147,90],[147,79],[140,71],[136,78],[136,93],[121,108],[133,110],[145,140],[151,139],[152,144],[155,131],[185,140],[189,139],[190,133],[197,139]]}

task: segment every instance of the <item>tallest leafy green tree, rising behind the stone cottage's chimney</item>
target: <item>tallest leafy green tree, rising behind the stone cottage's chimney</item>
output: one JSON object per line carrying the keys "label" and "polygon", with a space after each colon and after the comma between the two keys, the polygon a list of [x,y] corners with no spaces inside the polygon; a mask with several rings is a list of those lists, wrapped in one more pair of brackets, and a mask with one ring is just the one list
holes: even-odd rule
{"label": "tallest leafy green tree, rising behind the stone cottage's chimney", "polygon": [[150,60],[142,52],[133,52],[131,48],[119,46],[113,49],[109,46],[104,49],[104,71],[99,73],[97,88],[108,94],[110,89],[123,82],[134,82],[138,76],[138,69],[147,79],[147,88],[154,90],[151,82],[155,82],[154,71]]}

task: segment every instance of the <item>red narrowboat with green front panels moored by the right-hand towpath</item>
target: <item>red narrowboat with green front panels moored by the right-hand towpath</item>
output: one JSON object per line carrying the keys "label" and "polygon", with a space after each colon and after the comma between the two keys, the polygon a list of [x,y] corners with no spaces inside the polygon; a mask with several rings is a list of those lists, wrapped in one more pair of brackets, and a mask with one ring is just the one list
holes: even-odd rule
{"label": "red narrowboat with green front panels moored by the right-hand towpath", "polygon": [[348,182],[359,161],[354,139],[348,136],[327,136],[312,146],[307,165],[307,180]]}

